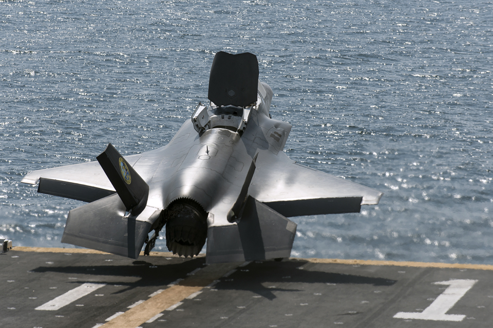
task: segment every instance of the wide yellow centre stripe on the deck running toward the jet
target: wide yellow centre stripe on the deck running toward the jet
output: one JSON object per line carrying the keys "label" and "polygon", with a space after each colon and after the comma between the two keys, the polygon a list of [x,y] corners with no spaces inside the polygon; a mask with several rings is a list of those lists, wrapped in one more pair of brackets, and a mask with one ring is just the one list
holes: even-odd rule
{"label": "wide yellow centre stripe on the deck running toward the jet", "polygon": [[124,314],[103,324],[102,328],[135,328],[150,318],[163,312],[170,306],[182,301],[186,297],[202,290],[214,280],[219,279],[227,272],[238,267],[241,263],[211,264],[201,269],[193,276],[180,281],[179,284],[171,286],[163,292],[149,298]]}

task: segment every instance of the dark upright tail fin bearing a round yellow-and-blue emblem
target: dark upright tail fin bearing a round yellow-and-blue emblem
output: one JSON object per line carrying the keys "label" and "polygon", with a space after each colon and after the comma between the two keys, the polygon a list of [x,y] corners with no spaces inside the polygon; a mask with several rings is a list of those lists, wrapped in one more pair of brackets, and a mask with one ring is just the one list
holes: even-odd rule
{"label": "dark upright tail fin bearing a round yellow-and-blue emblem", "polygon": [[96,158],[125,204],[126,210],[133,209],[132,214],[139,214],[147,203],[147,183],[111,144],[108,144],[105,151]]}

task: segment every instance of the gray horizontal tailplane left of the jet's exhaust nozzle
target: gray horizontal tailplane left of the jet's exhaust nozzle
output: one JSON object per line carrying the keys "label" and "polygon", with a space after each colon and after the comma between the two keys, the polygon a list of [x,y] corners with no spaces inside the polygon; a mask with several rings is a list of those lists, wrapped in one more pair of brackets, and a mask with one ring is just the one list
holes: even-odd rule
{"label": "gray horizontal tailplane left of the jet's exhaust nozzle", "polygon": [[71,210],[62,242],[137,258],[159,214],[146,207],[137,217],[125,217],[125,205],[114,194]]}

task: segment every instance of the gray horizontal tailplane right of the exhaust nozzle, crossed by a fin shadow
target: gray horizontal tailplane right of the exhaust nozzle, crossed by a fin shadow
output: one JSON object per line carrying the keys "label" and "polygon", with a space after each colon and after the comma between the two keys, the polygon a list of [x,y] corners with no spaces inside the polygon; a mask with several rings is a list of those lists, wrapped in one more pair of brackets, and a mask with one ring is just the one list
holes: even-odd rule
{"label": "gray horizontal tailplane right of the exhaust nozzle, crossed by a fin shadow", "polygon": [[207,263],[289,257],[296,223],[248,197],[238,224],[207,229]]}

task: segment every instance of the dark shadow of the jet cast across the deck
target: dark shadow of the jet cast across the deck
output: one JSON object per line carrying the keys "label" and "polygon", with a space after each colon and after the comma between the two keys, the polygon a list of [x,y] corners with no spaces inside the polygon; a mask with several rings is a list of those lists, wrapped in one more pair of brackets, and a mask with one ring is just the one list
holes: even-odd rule
{"label": "dark shadow of the jet cast across the deck", "polygon": [[[255,261],[245,267],[238,267],[237,271],[229,277],[223,277],[214,286],[217,290],[240,290],[250,291],[269,300],[276,298],[274,292],[300,292],[299,289],[276,288],[275,286],[266,287],[266,283],[329,283],[329,284],[369,284],[374,286],[391,286],[396,280],[368,277],[354,274],[342,274],[334,272],[324,272],[306,270],[300,268],[309,263],[305,260],[276,261]],[[134,261],[133,265],[93,265],[87,266],[67,266],[67,267],[39,267],[32,272],[46,273],[57,272],[65,274],[80,274],[91,276],[111,276],[108,284],[126,285],[127,288],[117,293],[136,288],[137,286],[156,286],[162,287],[178,279],[184,279],[187,274],[202,268],[205,264],[204,258],[183,261],[181,263],[153,264],[147,261]],[[88,269],[90,269],[88,271]],[[330,269],[330,267],[329,267]],[[138,277],[137,281],[123,281],[119,277]],[[87,279],[87,278],[86,278]],[[104,279],[102,279],[104,280]],[[78,281],[84,281],[84,278]],[[91,279],[90,282],[94,282]]]}

